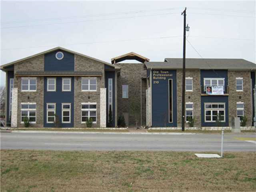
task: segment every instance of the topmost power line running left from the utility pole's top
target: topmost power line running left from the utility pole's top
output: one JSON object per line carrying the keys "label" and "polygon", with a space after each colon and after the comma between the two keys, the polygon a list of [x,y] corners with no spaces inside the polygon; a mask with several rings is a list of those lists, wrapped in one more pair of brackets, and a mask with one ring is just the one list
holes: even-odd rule
{"label": "topmost power line running left from the utility pole's top", "polygon": [[90,15],[82,15],[82,16],[72,16],[72,17],[54,17],[54,18],[45,18],[45,19],[30,19],[30,20],[20,20],[20,21],[10,21],[10,22],[1,22],[2,25],[8,25],[10,23],[21,23],[21,22],[37,22],[37,21],[53,21],[59,19],[78,19],[78,18],[85,18],[85,17],[106,17],[111,15],[122,15],[122,14],[138,14],[138,13],[149,13],[155,11],[170,11],[176,8],[166,8],[166,9],[152,9],[152,10],[138,10],[138,11],[126,11],[126,12],[118,12],[118,13],[105,13],[105,14],[90,14]]}

